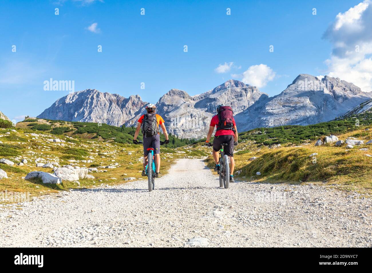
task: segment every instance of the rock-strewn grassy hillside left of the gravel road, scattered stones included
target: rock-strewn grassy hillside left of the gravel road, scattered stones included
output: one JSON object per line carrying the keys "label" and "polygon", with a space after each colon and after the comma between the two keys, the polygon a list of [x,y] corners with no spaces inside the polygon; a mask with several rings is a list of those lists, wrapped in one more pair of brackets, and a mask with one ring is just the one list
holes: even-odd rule
{"label": "rock-strewn grassy hillside left of the gravel road, scattered stones included", "polygon": [[[32,124],[37,123],[37,124]],[[27,126],[32,124],[32,126]],[[90,124],[62,123],[69,128],[64,134],[56,134],[62,127],[56,127],[60,121],[35,120],[18,123],[16,128],[0,129],[0,169],[7,178],[0,178],[0,192],[30,192],[31,196],[56,193],[70,188],[94,188],[106,184],[124,183],[126,181],[141,181],[142,146],[118,142],[108,142],[103,137],[90,138],[88,136],[103,135],[86,131]],[[33,130],[46,128],[48,130]],[[73,127],[76,126],[76,127]],[[86,127],[84,127],[86,126]],[[103,127],[103,124],[102,124]],[[113,126],[111,126],[113,127]],[[117,132],[108,126],[106,133]],[[84,128],[83,131],[78,131]],[[114,131],[110,131],[114,130]],[[132,128],[126,130],[133,130]],[[52,134],[52,132],[54,134]],[[74,134],[74,132],[78,132]],[[119,134],[120,132],[118,132]],[[69,134],[71,136],[69,136]],[[87,136],[81,138],[79,136]],[[177,143],[180,144],[177,139]],[[178,158],[204,157],[203,149],[190,150],[190,146],[171,148],[161,146],[161,172],[166,173],[170,165]],[[7,161],[9,160],[9,161]],[[25,176],[32,171],[53,173],[53,170],[64,166],[70,169],[88,169],[89,178],[77,179],[78,182],[62,180],[60,184],[44,184],[40,178],[25,180]],[[94,169],[96,168],[96,169]],[[0,171],[0,177],[4,172]],[[5,200],[0,200],[0,203]]]}

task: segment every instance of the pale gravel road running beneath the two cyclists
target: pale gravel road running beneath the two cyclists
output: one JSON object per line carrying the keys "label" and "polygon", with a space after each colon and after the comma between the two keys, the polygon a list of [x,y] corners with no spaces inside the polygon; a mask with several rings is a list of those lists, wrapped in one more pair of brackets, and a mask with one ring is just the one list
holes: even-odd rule
{"label": "pale gravel road running beneath the two cyclists", "polygon": [[325,186],[218,187],[201,159],[155,181],[81,189],[0,211],[0,247],[371,247],[372,200]]}

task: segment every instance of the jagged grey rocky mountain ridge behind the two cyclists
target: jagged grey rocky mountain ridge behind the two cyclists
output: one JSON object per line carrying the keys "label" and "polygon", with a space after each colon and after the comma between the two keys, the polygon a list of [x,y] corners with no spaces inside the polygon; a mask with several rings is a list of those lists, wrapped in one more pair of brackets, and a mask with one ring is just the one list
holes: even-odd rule
{"label": "jagged grey rocky mountain ridge behind the two cyclists", "polygon": [[[157,113],[169,133],[180,138],[202,138],[218,104],[234,110],[238,131],[257,127],[307,125],[333,120],[370,99],[356,85],[324,76],[322,79],[299,74],[278,95],[269,97],[259,88],[229,79],[217,87],[190,96],[172,88],[157,101]],[[58,99],[38,117],[67,121],[102,122],[135,126],[147,102],[139,95],[124,98],[118,94],[87,89]]]}

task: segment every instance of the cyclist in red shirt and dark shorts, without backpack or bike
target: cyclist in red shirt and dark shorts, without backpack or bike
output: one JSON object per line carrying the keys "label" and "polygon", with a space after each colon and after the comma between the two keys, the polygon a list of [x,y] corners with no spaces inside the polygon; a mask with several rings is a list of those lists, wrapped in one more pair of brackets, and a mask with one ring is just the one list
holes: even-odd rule
{"label": "cyclist in red shirt and dark shorts, without backpack or bike", "polygon": [[[225,106],[223,104],[220,104],[217,106],[217,113],[219,110],[219,107]],[[212,146],[211,143],[209,143],[209,140],[211,139],[212,133],[214,131],[214,127],[217,126],[217,131],[214,136],[213,140],[213,159],[216,163],[216,166],[214,170],[219,170],[219,150],[222,147],[223,143],[227,143],[228,145],[225,146],[224,153],[230,158],[230,182],[234,182],[234,167],[235,167],[235,160],[234,160],[234,146],[238,144],[238,130],[236,128],[235,120],[232,118],[232,130],[224,130],[224,129],[218,129],[218,114],[212,117],[211,124],[209,126],[209,131],[206,139],[206,145]]]}

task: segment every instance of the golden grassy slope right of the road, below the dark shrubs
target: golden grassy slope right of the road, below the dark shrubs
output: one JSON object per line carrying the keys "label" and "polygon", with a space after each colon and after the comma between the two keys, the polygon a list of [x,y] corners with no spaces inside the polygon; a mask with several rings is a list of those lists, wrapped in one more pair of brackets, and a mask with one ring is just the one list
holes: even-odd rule
{"label": "golden grassy slope right of the road, below the dark shrubs", "polygon": [[[360,127],[359,127],[360,128]],[[369,127],[371,128],[371,127]],[[360,140],[372,139],[372,130],[366,127],[349,133],[340,134],[338,137],[356,137]],[[306,143],[305,143],[306,144]],[[343,189],[353,189],[372,194],[372,145],[354,146],[346,149],[346,144],[341,147],[332,144],[314,146],[285,144],[282,147],[270,149],[260,143],[243,140],[239,143],[234,154],[236,168],[235,175],[264,182],[312,182],[335,185]],[[360,151],[367,148],[368,151]],[[318,153],[309,157],[312,153]],[[249,160],[251,157],[255,160]],[[214,164],[211,156],[208,165]],[[257,176],[256,172],[261,172]]]}

